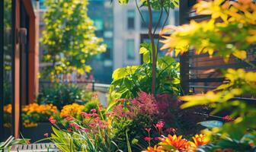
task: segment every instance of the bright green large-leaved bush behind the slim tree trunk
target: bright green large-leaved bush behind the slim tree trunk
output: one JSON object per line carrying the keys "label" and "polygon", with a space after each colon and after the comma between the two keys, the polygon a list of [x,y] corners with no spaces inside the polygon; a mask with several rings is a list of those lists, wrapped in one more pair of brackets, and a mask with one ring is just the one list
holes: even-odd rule
{"label": "bright green large-leaved bush behind the slim tree trunk", "polygon": [[[117,68],[114,71],[113,81],[110,85],[110,93],[116,91],[121,98],[136,97],[142,90],[151,93],[152,63],[149,44],[142,44],[140,53],[143,55],[143,64]],[[156,93],[180,94],[179,63],[169,56],[158,59],[156,67]]]}

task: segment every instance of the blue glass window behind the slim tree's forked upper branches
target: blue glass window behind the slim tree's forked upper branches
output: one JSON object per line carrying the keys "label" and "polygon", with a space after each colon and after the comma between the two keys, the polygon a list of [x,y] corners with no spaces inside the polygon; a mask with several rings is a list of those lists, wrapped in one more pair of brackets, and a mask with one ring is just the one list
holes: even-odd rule
{"label": "blue glass window behind the slim tree's forked upper branches", "polygon": [[[160,17],[161,11],[153,11],[152,12],[152,25],[153,27],[156,27],[158,24],[158,20]],[[145,22],[141,20],[141,27],[142,28],[148,28],[149,27],[149,11],[142,11],[142,16],[144,17]],[[165,19],[167,17],[166,13],[162,14],[162,20],[160,21],[158,28],[162,28],[162,26],[165,24]],[[168,23],[167,23],[168,24]]]}

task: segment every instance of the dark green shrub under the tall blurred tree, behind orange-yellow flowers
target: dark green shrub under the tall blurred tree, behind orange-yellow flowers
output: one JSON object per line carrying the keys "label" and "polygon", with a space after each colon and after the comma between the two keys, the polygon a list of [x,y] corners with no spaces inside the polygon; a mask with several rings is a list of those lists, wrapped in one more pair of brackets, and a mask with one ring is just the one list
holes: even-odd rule
{"label": "dark green shrub under the tall blurred tree, behind orange-yellow flowers", "polygon": [[80,89],[76,84],[53,83],[53,87],[43,87],[37,103],[52,103],[58,109],[72,103],[86,103],[91,100],[91,92]]}

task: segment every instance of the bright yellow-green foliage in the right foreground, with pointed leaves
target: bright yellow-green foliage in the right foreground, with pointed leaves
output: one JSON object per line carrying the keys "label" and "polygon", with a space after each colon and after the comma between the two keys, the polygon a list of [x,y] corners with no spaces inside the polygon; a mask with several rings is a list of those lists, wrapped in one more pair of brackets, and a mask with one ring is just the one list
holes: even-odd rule
{"label": "bright yellow-green foliage in the right foreground, with pointed leaves", "polygon": [[[248,49],[256,43],[255,2],[200,1],[194,8],[197,14],[210,15],[210,20],[191,21],[178,28],[166,29],[174,32],[165,36],[163,49],[175,49],[178,55],[194,48],[197,54],[218,55],[226,62],[233,55],[255,68],[254,63],[249,62],[254,55],[248,56]],[[224,117],[229,122],[202,131],[206,138],[212,139],[212,144],[200,147],[200,151],[254,151],[256,106],[237,97],[255,97],[256,72],[229,68],[224,70],[224,76],[226,83],[215,90],[181,97],[186,101],[181,108],[207,105],[213,109],[211,115],[230,112],[230,116]]]}

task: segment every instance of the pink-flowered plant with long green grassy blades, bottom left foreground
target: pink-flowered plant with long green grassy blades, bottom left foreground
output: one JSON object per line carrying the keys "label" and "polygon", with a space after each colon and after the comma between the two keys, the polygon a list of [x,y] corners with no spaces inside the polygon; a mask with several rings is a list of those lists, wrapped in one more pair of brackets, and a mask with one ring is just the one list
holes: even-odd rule
{"label": "pink-flowered plant with long green grassy blades, bottom left foreground", "polygon": [[[59,150],[70,151],[114,151],[117,147],[111,141],[110,117],[103,119],[102,112],[91,109],[91,112],[80,112],[82,120],[72,116],[66,116],[62,123],[65,130],[56,125],[56,120],[50,118],[54,125],[50,140],[52,140]],[[72,144],[70,144],[72,143]]]}

